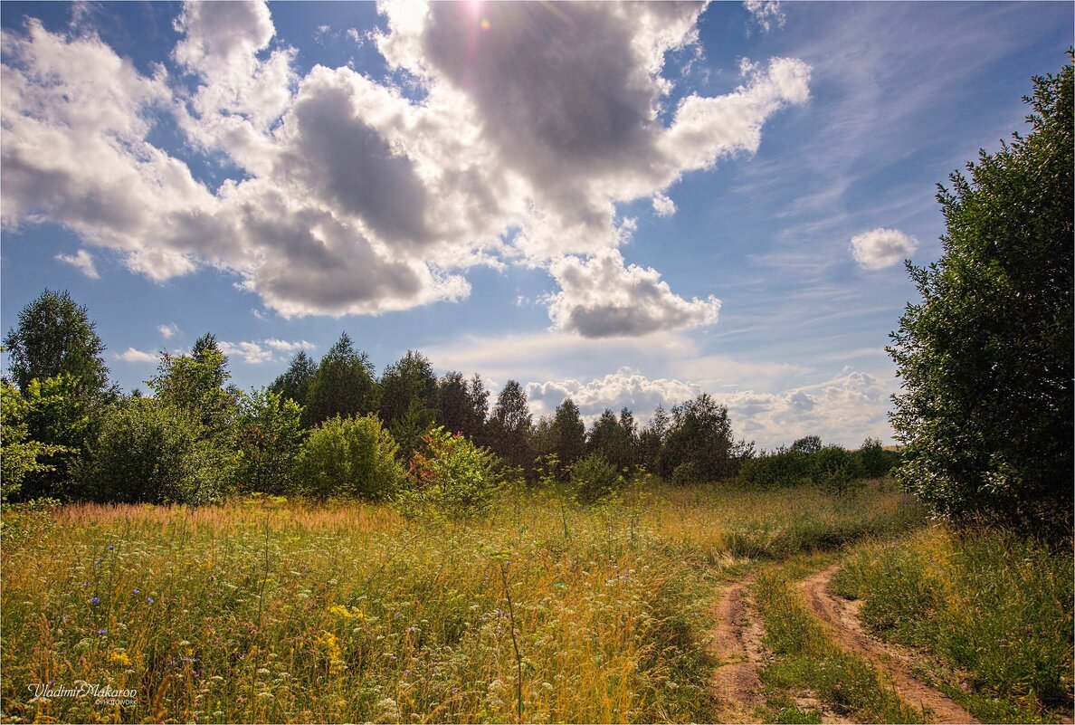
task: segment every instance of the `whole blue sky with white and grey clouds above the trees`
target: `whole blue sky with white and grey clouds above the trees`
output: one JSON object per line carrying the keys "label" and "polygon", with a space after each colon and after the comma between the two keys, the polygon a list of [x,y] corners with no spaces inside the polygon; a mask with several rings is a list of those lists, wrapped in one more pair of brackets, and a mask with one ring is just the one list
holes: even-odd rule
{"label": "whole blue sky with white and grey clouds above the trees", "polygon": [[892,442],[936,184],[1026,129],[1071,2],[0,4],[0,324],[113,379],[346,331],[536,416],[699,393],[760,447]]}

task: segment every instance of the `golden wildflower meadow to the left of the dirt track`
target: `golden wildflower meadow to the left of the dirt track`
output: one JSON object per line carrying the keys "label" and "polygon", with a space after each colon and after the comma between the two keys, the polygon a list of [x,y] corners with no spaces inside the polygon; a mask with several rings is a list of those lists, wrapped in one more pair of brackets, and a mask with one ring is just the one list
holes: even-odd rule
{"label": "golden wildflower meadow to the left of the dirt track", "polygon": [[[3,719],[712,721],[722,572],[919,516],[882,488],[656,487],[565,515],[535,495],[459,523],[278,499],[8,509]],[[80,681],[138,696],[27,691]]]}

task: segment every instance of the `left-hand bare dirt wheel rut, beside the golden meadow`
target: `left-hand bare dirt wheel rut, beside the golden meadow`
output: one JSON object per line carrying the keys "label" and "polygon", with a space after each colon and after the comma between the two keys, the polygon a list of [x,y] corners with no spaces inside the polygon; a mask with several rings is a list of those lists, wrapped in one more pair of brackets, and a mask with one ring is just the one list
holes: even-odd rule
{"label": "left-hand bare dirt wheel rut, beside the golden meadow", "polygon": [[761,666],[762,628],[747,600],[747,587],[754,574],[726,585],[714,615],[714,654],[720,660],[713,676],[713,688],[720,701],[721,723],[752,723],[754,709],[764,705]]}

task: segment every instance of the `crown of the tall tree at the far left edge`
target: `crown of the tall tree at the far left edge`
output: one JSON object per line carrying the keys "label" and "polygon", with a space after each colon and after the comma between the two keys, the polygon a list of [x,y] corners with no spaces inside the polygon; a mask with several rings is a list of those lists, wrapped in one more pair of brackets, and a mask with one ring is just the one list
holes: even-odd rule
{"label": "crown of the tall tree at the far left edge", "polygon": [[8,330],[4,346],[11,374],[24,393],[33,379],[72,375],[83,394],[98,394],[109,383],[109,368],[85,305],[71,295],[45,289],[18,313],[18,327]]}

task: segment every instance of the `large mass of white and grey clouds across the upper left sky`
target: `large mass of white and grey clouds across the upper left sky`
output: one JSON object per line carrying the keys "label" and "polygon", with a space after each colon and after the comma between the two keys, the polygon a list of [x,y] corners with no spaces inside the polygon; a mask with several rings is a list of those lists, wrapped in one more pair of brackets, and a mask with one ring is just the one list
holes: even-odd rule
{"label": "large mass of white and grey clouds across the upper left sky", "polygon": [[[284,316],[459,300],[468,268],[522,262],[567,283],[548,298],[562,329],[712,324],[715,298],[625,267],[616,205],[674,213],[665,189],[754,153],[772,114],[807,100],[809,68],[748,63],[739,88],[688,94],[662,122],[665,53],[698,43],[703,9],[389,0],[386,31],[348,33],[407,95],[347,67],[300,75],[263,2],[185,5],[148,75],[89,30],[31,22],[0,38],[0,217],[64,225],[155,281],[230,271]],[[196,177],[150,141],[157,119],[231,177]],[[586,288],[606,283],[626,287]]]}

